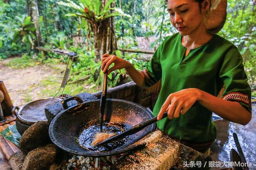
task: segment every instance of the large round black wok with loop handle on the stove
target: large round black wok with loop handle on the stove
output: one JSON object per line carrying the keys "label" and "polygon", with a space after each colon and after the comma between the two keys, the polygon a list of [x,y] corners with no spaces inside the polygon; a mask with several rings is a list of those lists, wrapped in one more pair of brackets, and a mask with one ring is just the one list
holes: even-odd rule
{"label": "large round black wok with loop handle on the stove", "polygon": [[[67,102],[76,100],[78,105],[67,109]],[[140,138],[156,129],[156,123],[140,130],[136,134],[128,136],[126,143],[119,148],[107,151],[92,151],[83,148],[78,143],[82,130],[92,125],[99,124],[100,99],[87,101],[73,96],[62,101],[66,111],[58,114],[50,123],[49,134],[52,142],[65,151],[84,156],[110,156],[128,152],[138,147],[134,144]],[[134,125],[152,118],[153,115],[146,108],[119,99],[107,99],[105,122],[112,124],[122,124],[124,130],[128,130]]]}

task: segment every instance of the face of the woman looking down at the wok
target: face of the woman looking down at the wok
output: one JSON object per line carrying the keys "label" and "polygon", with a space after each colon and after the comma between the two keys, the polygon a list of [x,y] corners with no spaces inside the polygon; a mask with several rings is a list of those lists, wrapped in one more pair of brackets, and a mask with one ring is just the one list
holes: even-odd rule
{"label": "face of the woman looking down at the wok", "polygon": [[209,9],[209,0],[201,4],[195,0],[168,0],[168,12],[172,25],[182,36],[189,35],[204,24],[205,12]]}

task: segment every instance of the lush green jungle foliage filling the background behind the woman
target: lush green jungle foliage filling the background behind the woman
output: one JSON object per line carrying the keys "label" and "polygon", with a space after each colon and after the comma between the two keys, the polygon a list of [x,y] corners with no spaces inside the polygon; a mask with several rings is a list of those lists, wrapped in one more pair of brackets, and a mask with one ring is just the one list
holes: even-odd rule
{"label": "lush green jungle foliage filling the background behind the woman", "polygon": [[[108,0],[104,8],[101,0],[34,1],[38,3],[44,47],[78,53],[79,59],[74,62],[71,77],[74,82],[94,83],[98,86],[102,81],[102,72],[98,71],[100,63],[94,61],[97,51],[94,50],[95,33],[90,25],[92,20],[99,22],[114,17],[114,36],[119,49],[138,49],[136,37],[155,37],[157,41],[150,46],[153,50],[166,36],[176,32],[170,24],[164,0]],[[112,3],[114,7],[110,5]],[[66,62],[67,58],[64,56],[54,53],[43,55],[31,48],[36,34],[26,6],[26,1],[23,0],[0,0],[0,58],[25,55],[40,63],[52,61],[51,59]],[[255,89],[256,1],[228,0],[227,11],[226,24],[218,34],[238,47],[244,59],[249,83]],[[142,57],[140,54],[115,52],[138,69],[143,69],[146,64],[146,61],[138,59]],[[114,71],[109,79],[110,87],[129,81],[124,70]]]}

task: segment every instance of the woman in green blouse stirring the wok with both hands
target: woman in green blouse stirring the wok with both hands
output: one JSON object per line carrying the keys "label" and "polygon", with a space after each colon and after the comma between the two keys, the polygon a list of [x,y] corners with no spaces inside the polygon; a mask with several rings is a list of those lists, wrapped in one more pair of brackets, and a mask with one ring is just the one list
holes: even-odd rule
{"label": "woman in green blouse stirring the wok with both hands", "polygon": [[[198,151],[216,138],[212,112],[246,125],[251,120],[251,89],[238,49],[206,29],[210,0],[168,0],[170,21],[179,33],[166,37],[143,71],[115,55],[102,56],[102,70],[126,69],[132,80],[148,87],[162,79],[153,115],[164,133]],[[225,86],[222,98],[216,97]]]}

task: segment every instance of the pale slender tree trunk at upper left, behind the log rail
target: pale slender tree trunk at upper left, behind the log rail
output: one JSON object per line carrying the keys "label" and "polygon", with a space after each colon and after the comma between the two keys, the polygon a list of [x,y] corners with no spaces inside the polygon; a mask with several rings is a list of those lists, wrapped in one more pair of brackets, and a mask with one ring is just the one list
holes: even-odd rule
{"label": "pale slender tree trunk at upper left, behind the log rail", "polygon": [[[27,4],[27,13],[28,16],[31,17],[31,21],[34,22],[34,26],[36,28],[36,42],[34,42],[34,47],[39,47],[43,45],[43,40],[41,36],[40,31],[40,25],[39,25],[39,12],[38,12],[38,2],[37,0],[26,0]],[[34,49],[32,47],[32,49]]]}

